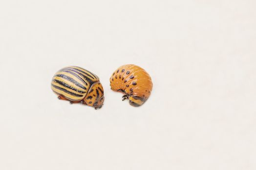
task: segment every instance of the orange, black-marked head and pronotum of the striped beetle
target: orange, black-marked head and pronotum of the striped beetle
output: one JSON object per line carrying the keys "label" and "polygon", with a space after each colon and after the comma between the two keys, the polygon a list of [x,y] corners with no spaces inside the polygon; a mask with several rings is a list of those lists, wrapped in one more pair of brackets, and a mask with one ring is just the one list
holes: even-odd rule
{"label": "orange, black-marked head and pronotum of the striped beetle", "polygon": [[104,91],[103,86],[100,82],[96,82],[91,85],[90,89],[88,90],[84,102],[88,106],[92,106],[95,109],[101,108],[104,102]]}

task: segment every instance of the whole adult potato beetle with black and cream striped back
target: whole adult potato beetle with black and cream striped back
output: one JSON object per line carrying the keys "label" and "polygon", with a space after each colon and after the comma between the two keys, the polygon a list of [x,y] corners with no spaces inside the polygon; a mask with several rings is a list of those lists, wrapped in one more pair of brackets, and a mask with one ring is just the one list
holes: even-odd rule
{"label": "whole adult potato beetle with black and cream striped back", "polygon": [[92,72],[69,66],[60,69],[52,78],[51,89],[61,100],[101,108],[104,102],[104,90],[99,77]]}

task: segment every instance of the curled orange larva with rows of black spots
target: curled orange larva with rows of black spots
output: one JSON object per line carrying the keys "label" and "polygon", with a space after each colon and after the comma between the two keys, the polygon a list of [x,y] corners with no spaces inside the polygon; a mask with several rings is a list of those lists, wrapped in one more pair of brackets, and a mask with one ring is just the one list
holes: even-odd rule
{"label": "curled orange larva with rows of black spots", "polygon": [[123,101],[129,99],[130,105],[140,106],[149,98],[153,84],[145,69],[128,64],[115,70],[110,77],[110,86],[125,94]]}

